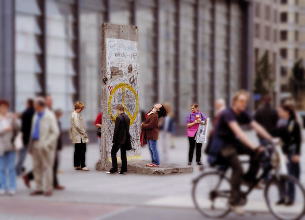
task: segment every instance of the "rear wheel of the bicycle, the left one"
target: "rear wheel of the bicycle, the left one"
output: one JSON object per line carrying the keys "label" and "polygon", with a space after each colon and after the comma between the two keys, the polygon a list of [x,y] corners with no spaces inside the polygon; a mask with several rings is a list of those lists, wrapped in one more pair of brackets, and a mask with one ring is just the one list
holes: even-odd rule
{"label": "rear wheel of the bicycle, the left one", "polygon": [[230,182],[220,172],[207,172],[194,180],[192,197],[196,208],[206,217],[223,217],[230,212]]}

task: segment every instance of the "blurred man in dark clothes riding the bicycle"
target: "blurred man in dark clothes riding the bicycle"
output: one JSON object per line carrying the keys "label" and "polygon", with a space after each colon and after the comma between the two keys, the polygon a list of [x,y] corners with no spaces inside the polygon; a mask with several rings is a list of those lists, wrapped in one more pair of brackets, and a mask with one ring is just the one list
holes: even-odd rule
{"label": "blurred man in dark clothes riding the bicycle", "polygon": [[[242,196],[240,184],[244,182],[252,185],[260,168],[264,149],[253,144],[240,126],[250,125],[261,137],[269,141],[272,136],[245,111],[249,101],[249,93],[246,90],[236,92],[232,101],[232,107],[220,115],[208,150],[208,161],[211,165],[223,164],[232,169],[229,205],[235,213],[243,214],[241,206],[246,203],[246,198]],[[250,156],[250,168],[245,175],[238,160],[239,154]]]}

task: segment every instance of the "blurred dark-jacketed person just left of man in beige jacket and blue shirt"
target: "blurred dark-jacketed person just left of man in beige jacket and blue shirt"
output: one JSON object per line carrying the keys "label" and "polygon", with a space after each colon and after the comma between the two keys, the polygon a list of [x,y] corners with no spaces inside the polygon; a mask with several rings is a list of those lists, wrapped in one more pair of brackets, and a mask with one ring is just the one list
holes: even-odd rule
{"label": "blurred dark-jacketed person just left of man in beige jacket and blue shirt", "polygon": [[22,140],[23,140],[24,146],[19,151],[19,158],[18,158],[18,162],[16,165],[16,172],[17,172],[18,176],[21,175],[24,170],[23,163],[25,161],[26,154],[27,154],[29,136],[30,136],[31,128],[32,128],[32,119],[33,119],[33,115],[35,113],[33,102],[34,102],[33,99],[28,99],[26,101],[26,104],[25,104],[26,109],[23,111],[23,113],[21,115],[21,132],[22,132]]}

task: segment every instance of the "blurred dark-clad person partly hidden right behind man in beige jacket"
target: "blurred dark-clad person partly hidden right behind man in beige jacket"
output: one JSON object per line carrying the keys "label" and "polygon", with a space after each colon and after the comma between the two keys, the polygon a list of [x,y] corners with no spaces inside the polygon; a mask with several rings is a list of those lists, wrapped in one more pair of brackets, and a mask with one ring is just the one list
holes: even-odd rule
{"label": "blurred dark-clad person partly hidden right behind man in beige jacket", "polygon": [[56,109],[54,113],[55,113],[55,117],[56,117],[56,120],[57,120],[59,136],[57,138],[57,146],[56,146],[54,166],[53,166],[53,187],[54,187],[55,190],[64,190],[65,186],[60,185],[58,183],[58,178],[57,178],[57,169],[58,169],[58,164],[59,164],[60,151],[63,149],[62,124],[60,123],[60,117],[63,116],[63,110],[62,109]]}

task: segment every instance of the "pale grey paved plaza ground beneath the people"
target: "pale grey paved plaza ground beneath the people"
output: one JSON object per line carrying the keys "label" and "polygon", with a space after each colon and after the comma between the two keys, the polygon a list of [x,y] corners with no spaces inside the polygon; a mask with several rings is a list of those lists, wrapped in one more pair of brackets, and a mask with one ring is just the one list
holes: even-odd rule
{"label": "pale grey paved plaza ground beneath the people", "polygon": [[[255,135],[248,132],[255,140]],[[59,181],[67,188],[55,191],[50,198],[30,197],[21,178],[18,178],[18,192],[15,197],[0,198],[0,220],[98,220],[98,219],[205,219],[194,209],[191,199],[192,179],[200,174],[198,166],[190,174],[170,175],[107,175],[96,171],[99,159],[97,144],[89,144],[86,152],[86,165],[89,172],[73,169],[73,147],[66,146],[62,152]],[[160,149],[160,153],[162,150]],[[188,162],[188,140],[176,138],[176,148],[170,149],[169,163],[186,165]],[[142,148],[144,160],[149,160],[149,152]],[[203,156],[204,157],[204,156]],[[304,167],[305,156],[302,156]],[[161,154],[162,160],[162,154]],[[205,161],[204,158],[202,160]],[[26,167],[31,169],[31,156],[27,157]],[[304,169],[302,169],[304,171]],[[305,183],[302,175],[302,183]],[[35,184],[32,183],[32,190]],[[267,211],[262,191],[254,191],[249,198],[247,210]],[[231,214],[226,219],[235,219]],[[247,219],[273,219],[269,214]]]}

